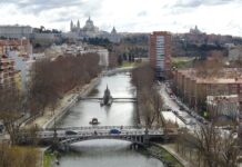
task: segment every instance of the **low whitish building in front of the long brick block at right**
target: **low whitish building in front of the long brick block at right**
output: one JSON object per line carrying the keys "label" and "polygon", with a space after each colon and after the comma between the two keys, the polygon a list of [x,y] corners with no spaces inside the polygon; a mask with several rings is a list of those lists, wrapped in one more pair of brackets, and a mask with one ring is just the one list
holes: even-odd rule
{"label": "low whitish building in front of the long brick block at right", "polygon": [[239,118],[239,97],[238,95],[208,96],[206,110],[211,119],[225,117],[225,119],[236,120]]}

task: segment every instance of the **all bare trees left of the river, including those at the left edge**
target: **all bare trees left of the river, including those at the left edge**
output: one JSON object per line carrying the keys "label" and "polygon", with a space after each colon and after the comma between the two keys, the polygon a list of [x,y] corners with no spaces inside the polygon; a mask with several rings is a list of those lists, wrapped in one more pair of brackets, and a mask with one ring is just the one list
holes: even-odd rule
{"label": "all bare trees left of the river, including those at the left edge", "polygon": [[99,75],[98,63],[97,53],[38,60],[32,66],[27,91],[19,91],[14,85],[0,88],[0,120],[10,135],[11,144],[19,141],[24,114],[43,114],[47,107],[53,112],[64,94]]}

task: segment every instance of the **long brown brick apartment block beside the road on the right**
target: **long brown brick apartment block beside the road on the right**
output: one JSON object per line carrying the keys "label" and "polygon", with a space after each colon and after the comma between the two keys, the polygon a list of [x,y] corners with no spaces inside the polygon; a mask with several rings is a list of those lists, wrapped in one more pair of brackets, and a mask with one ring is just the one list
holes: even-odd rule
{"label": "long brown brick apartment block beside the road on the right", "polygon": [[[223,76],[203,78],[195,69],[183,69],[174,72],[174,92],[195,111],[208,108],[208,96],[238,96],[240,137],[242,137],[242,69],[221,69]],[[235,102],[235,101],[234,101]]]}

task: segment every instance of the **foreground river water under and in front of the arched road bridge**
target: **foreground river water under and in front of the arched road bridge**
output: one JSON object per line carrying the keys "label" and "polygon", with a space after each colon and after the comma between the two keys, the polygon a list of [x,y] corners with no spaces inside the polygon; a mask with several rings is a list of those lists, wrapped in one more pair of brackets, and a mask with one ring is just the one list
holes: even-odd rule
{"label": "foreground river water under and in front of the arched road bridge", "polygon": [[130,143],[89,140],[75,144],[80,155],[61,158],[61,167],[163,167],[158,159],[130,149]]}

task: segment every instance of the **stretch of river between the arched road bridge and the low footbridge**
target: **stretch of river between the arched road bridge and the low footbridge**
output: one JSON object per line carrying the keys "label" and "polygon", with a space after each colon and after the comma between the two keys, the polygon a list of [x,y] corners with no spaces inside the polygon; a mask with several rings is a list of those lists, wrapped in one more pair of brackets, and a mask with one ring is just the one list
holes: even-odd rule
{"label": "stretch of river between the arched road bridge and the low footbridge", "polygon": [[111,107],[101,107],[97,101],[82,101],[71,109],[71,112],[61,121],[60,127],[90,126],[94,117],[100,126],[134,125],[135,104],[113,102]]}

